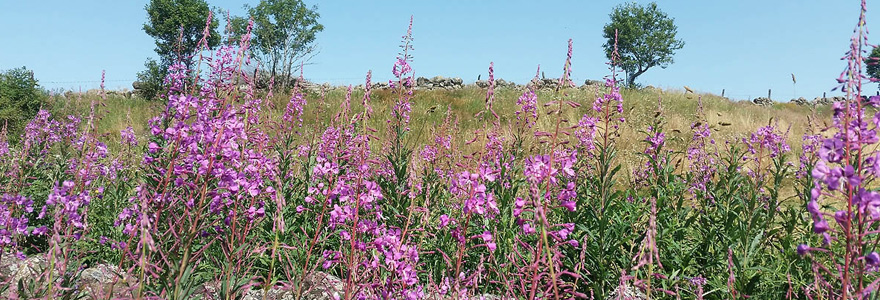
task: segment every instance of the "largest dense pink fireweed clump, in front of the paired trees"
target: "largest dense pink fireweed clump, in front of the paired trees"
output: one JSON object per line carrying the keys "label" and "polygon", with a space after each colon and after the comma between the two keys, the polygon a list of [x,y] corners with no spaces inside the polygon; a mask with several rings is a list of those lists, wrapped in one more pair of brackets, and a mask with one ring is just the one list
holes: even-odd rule
{"label": "largest dense pink fireweed clump, in front of the paired trees", "polygon": [[[238,53],[229,46],[215,51],[198,90],[186,87],[190,72],[185,66],[169,69],[167,107],[149,122],[143,156],[145,176],[154,180],[136,188],[116,222],[124,233],[139,237],[132,246],[146,247],[143,243],[172,230],[195,232],[188,241],[195,243],[241,234],[264,216],[264,203],[274,194],[267,183],[275,162],[261,150],[268,148],[266,135],[253,126],[262,101],[249,91],[240,101],[221,98],[237,87]],[[204,213],[189,215],[193,211]]]}

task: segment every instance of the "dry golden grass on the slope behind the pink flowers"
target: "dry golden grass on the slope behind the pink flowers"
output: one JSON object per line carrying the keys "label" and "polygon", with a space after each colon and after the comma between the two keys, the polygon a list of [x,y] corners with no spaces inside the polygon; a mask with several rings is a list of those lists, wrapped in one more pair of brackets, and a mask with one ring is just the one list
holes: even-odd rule
{"label": "dry golden grass on the slope behind the pink flowers", "polygon": [[[562,115],[569,122],[577,122],[585,113],[591,113],[592,103],[601,89],[570,89],[566,91],[565,99],[582,104],[578,109],[568,109]],[[514,112],[517,110],[516,100],[522,90],[498,89],[495,94],[494,110],[501,117],[503,128],[516,119]],[[808,128],[808,116],[815,114],[819,120],[829,118],[829,108],[819,107],[817,111],[811,111],[809,107],[798,106],[793,103],[776,103],[770,107],[757,106],[748,102],[731,102],[711,94],[693,94],[685,90],[658,89],[623,89],[624,117],[626,123],[620,128],[620,138],[617,146],[619,158],[631,174],[632,167],[638,166],[639,156],[636,153],[642,151],[645,138],[641,132],[653,121],[657,111],[658,99],[662,100],[663,118],[665,131],[669,144],[668,149],[681,150],[686,147],[693,134],[691,124],[698,120],[698,100],[702,99],[705,116],[713,128],[713,138],[719,143],[724,141],[739,141],[747,137],[755,129],[772,122],[781,130],[788,130],[788,139],[792,150],[801,149],[801,137]],[[335,88],[326,92],[323,97],[320,93],[308,93],[308,105],[304,115],[306,131],[308,128],[322,130],[327,120],[332,119],[340,111],[340,105],[345,98],[346,89]],[[362,111],[362,90],[355,90],[351,96],[351,107],[354,112]],[[455,137],[459,145],[464,141],[473,139],[477,130],[485,128],[487,121],[475,117],[485,108],[486,90],[479,88],[465,88],[460,90],[446,91],[416,91],[412,100],[412,138],[416,144],[432,142],[432,129],[442,124],[448,111],[453,119],[458,120],[460,134]],[[560,95],[553,91],[539,91],[539,115],[538,129],[549,130],[555,124],[555,119],[543,114],[543,105],[559,98]],[[287,105],[289,95],[276,95],[269,101],[265,108],[266,118],[273,121],[280,120],[281,114]],[[379,130],[380,137],[386,128],[386,119],[390,115],[391,107],[395,103],[397,95],[390,90],[376,90],[372,93],[371,105],[374,110],[374,118],[370,126]],[[89,105],[93,100],[103,102],[98,106],[98,112],[102,115],[97,124],[99,132],[106,133],[108,138],[118,138],[118,132],[127,126],[132,126],[139,134],[144,134],[147,120],[158,115],[164,109],[161,102],[151,102],[139,99],[125,99],[121,97],[108,97],[106,101],[100,101],[96,96],[74,97],[74,99],[55,98],[50,102],[50,107],[56,114],[88,115]],[[818,122],[822,125],[822,121]],[[321,125],[321,126],[310,126]],[[509,130],[508,130],[509,131]],[[502,133],[510,136],[509,132]],[[112,145],[111,145],[112,147]],[[465,149],[468,150],[468,149]],[[475,150],[475,149],[472,149]]]}

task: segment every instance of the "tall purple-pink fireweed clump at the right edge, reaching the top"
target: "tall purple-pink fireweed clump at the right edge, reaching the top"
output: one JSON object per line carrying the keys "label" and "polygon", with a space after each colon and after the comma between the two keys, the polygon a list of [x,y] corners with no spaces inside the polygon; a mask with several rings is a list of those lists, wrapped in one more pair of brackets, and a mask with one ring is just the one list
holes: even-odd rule
{"label": "tall purple-pink fireweed clump at the right edge, reaching the top", "polygon": [[[868,47],[865,28],[866,1],[862,1],[859,22],[851,38],[850,49],[843,58],[847,66],[841,72],[838,82],[846,93],[845,101],[832,105],[832,128],[830,137],[821,138],[817,143],[817,160],[812,171],[813,189],[807,211],[813,221],[813,231],[823,237],[829,256],[828,265],[818,265],[814,270],[835,270],[826,274],[815,271],[817,282],[831,282],[839,286],[841,299],[865,297],[876,289],[876,281],[870,273],[876,271],[880,255],[868,252],[876,240],[877,232],[872,225],[878,221],[878,194],[866,185],[875,179],[873,165],[876,164],[877,130],[880,119],[866,115],[862,100],[862,84],[868,82],[863,72]],[[833,214],[822,211],[819,203],[842,203],[840,210]],[[839,207],[839,206],[838,206]],[[830,226],[826,216],[833,216],[839,226]],[[837,243],[840,245],[832,245]],[[798,253],[806,253],[809,248],[798,247]],[[862,282],[874,282],[863,285]]]}

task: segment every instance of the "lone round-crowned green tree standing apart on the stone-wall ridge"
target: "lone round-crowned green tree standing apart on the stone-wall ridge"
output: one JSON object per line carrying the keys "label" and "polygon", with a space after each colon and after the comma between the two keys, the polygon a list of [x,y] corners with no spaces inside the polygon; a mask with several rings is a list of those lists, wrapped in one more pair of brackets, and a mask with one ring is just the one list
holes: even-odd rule
{"label": "lone round-crowned green tree standing apart on the stone-wall ridge", "polygon": [[684,47],[683,41],[675,39],[678,28],[674,19],[661,11],[657,3],[618,5],[609,16],[611,23],[605,24],[603,30],[605,55],[611,59],[616,32],[620,54],[617,65],[626,71],[629,86],[652,67],[665,69],[673,63],[675,51]]}

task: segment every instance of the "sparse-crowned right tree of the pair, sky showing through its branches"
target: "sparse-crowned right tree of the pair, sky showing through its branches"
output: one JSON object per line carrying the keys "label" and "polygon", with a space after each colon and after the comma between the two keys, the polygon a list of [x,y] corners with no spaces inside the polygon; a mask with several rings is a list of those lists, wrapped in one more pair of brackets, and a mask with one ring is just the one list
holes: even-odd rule
{"label": "sparse-crowned right tree of the pair, sky showing through its branches", "polygon": [[[298,62],[314,54],[315,35],[324,30],[318,24],[317,6],[308,7],[301,0],[261,0],[256,7],[245,8],[254,22],[251,54],[282,87],[286,86],[298,70]],[[240,17],[231,22],[239,35],[248,24]]]}

